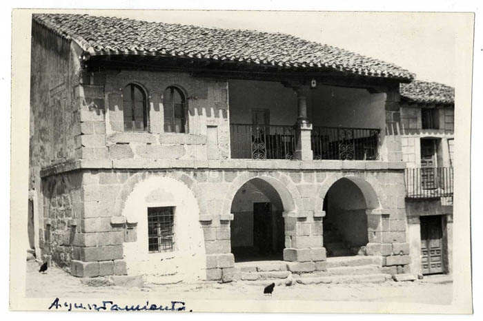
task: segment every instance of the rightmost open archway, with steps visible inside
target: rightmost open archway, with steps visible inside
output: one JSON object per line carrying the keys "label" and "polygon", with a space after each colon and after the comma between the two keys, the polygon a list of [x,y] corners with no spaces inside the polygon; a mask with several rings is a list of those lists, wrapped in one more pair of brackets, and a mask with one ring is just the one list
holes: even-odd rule
{"label": "rightmost open archway, with steps visible inside", "polygon": [[366,209],[378,207],[375,191],[361,178],[341,178],[324,197],[324,247],[328,257],[364,253],[368,243]]}

